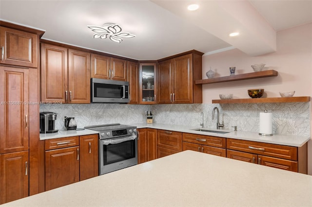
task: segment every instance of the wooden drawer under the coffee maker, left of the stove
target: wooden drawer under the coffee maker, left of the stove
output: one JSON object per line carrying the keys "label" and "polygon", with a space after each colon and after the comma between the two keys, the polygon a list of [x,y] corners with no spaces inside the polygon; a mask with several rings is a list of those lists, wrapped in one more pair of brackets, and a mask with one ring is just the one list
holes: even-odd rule
{"label": "wooden drawer under the coffee maker, left of the stove", "polygon": [[45,150],[55,150],[79,145],[79,137],[54,138],[45,140]]}

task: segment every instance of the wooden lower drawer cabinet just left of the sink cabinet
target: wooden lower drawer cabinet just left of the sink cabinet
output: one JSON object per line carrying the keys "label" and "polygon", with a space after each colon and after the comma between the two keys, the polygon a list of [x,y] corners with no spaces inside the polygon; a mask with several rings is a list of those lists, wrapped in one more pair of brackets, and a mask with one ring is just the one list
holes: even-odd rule
{"label": "wooden lower drawer cabinet just left of the sink cabinet", "polygon": [[182,133],[157,130],[157,158],[182,152]]}

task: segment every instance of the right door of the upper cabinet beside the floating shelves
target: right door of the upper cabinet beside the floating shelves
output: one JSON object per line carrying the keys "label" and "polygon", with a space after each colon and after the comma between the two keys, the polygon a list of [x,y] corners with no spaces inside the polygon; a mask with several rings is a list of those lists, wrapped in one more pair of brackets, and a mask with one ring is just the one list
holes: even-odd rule
{"label": "right door of the upper cabinet beside the floating shelves", "polygon": [[175,104],[193,103],[193,64],[192,54],[174,59],[174,94]]}

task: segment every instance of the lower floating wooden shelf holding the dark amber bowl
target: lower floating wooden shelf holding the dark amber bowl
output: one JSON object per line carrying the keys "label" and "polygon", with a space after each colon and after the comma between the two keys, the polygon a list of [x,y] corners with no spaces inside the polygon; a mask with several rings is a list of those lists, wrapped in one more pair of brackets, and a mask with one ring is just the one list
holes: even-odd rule
{"label": "lower floating wooden shelf holding the dark amber bowl", "polygon": [[310,96],[212,100],[213,104],[248,104],[248,103],[253,104],[253,103],[287,103],[287,102],[310,102]]}

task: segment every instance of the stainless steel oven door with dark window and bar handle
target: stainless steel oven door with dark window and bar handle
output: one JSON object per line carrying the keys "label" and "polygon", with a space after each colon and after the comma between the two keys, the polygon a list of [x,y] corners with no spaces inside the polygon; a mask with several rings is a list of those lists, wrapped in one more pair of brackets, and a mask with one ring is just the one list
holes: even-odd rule
{"label": "stainless steel oven door with dark window and bar handle", "polygon": [[137,135],[99,140],[99,174],[137,164]]}

